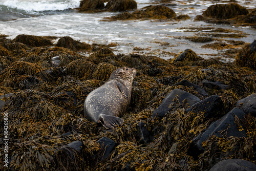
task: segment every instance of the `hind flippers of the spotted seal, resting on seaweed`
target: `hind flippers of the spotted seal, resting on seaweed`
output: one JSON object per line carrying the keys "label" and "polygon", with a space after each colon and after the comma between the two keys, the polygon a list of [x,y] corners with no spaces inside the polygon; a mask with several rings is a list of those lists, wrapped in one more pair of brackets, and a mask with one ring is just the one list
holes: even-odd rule
{"label": "hind flippers of the spotted seal, resting on seaweed", "polygon": [[113,129],[114,126],[122,125],[123,119],[112,115],[100,114],[98,122],[100,122],[105,129]]}

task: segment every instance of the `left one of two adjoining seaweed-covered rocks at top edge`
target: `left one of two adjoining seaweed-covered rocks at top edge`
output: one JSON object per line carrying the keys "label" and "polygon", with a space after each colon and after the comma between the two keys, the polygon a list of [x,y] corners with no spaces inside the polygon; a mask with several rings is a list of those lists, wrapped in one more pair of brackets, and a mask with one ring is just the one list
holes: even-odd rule
{"label": "left one of two adjoining seaweed-covered rocks at top edge", "polygon": [[82,0],[80,1],[79,11],[84,12],[94,9],[103,9],[104,2],[102,0]]}

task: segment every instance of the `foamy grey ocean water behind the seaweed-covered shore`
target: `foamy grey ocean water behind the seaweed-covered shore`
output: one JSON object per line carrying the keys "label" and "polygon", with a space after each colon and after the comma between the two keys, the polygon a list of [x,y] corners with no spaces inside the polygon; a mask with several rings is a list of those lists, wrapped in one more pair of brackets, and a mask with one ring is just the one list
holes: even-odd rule
{"label": "foamy grey ocean water behind the seaweed-covered shore", "polygon": [[[152,0],[137,0],[136,2],[138,9],[160,3]],[[248,34],[244,38],[232,38],[234,40],[252,42],[256,39],[255,28],[193,21],[196,15],[202,14],[207,7],[216,2],[227,3],[227,1],[169,1],[168,7],[173,9],[177,15],[187,14],[191,17],[181,22],[156,22],[154,20],[106,22],[103,21],[104,17],[118,13],[79,13],[76,10],[80,4],[79,0],[0,0],[0,34],[8,35],[8,38],[15,38],[19,34],[70,36],[89,44],[114,42],[118,44],[113,48],[116,54],[131,53],[135,52],[136,48],[141,48],[144,50],[140,53],[169,59],[174,57],[172,53],[192,49],[205,58],[216,57],[215,54],[221,58],[223,51],[201,48],[206,43],[195,43],[177,38],[177,36],[195,36],[195,32],[186,32],[188,30],[186,28],[213,27],[239,30]],[[246,8],[256,8],[256,0],[239,1],[239,4]]]}

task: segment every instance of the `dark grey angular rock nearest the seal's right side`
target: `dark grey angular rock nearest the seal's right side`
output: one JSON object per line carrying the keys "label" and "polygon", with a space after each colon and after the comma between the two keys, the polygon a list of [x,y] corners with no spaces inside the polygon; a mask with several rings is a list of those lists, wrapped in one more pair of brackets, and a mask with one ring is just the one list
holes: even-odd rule
{"label": "dark grey angular rock nearest the seal's right side", "polygon": [[163,117],[170,110],[169,104],[173,102],[173,99],[176,97],[176,95],[178,95],[180,103],[182,103],[182,101],[186,99],[189,106],[200,101],[198,97],[188,92],[182,91],[180,89],[174,89],[172,92],[167,94],[159,107],[153,112],[153,117],[155,117],[157,114],[160,118]]}

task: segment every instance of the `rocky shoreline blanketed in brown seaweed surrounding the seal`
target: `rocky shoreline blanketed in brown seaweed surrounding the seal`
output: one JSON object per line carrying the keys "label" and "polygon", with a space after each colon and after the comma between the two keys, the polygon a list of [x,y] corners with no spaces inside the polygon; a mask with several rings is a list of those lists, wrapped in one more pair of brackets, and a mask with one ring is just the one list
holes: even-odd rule
{"label": "rocky shoreline blanketed in brown seaweed surrounding the seal", "polygon": [[[166,8],[124,13],[150,18],[152,9]],[[253,27],[250,21],[244,24]],[[54,44],[57,38],[0,35],[0,126],[8,126],[0,134],[0,154],[8,154],[1,170],[256,169],[256,41],[230,40],[241,49],[226,53],[234,62],[223,62],[204,59],[193,48],[165,60],[115,54],[116,44],[69,36]],[[221,41],[208,46],[227,46]],[[83,103],[119,67],[137,69],[132,100],[124,124],[105,130],[84,118]]]}

